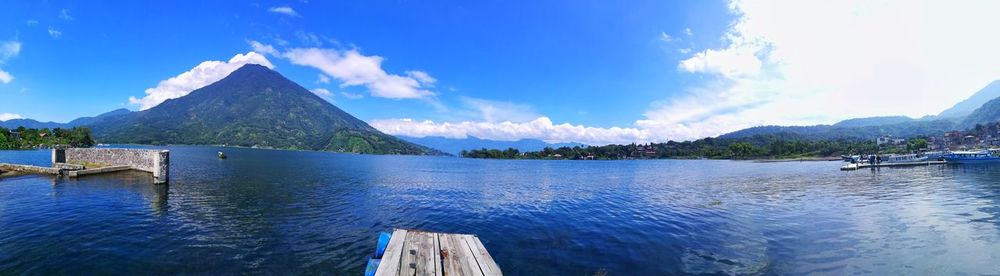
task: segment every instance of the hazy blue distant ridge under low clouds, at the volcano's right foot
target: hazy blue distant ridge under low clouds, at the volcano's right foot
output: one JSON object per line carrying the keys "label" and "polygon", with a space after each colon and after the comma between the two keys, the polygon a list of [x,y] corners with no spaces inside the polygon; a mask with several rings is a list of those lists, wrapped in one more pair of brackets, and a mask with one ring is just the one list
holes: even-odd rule
{"label": "hazy blue distant ridge under low clouds, at the volcano's right foot", "polygon": [[525,152],[525,151],[538,151],[544,149],[545,147],[559,148],[559,147],[585,146],[584,144],[580,143],[550,144],[546,143],[545,141],[537,139],[498,141],[498,140],[480,139],[473,136],[469,136],[468,138],[465,139],[446,138],[441,136],[427,136],[419,138],[410,136],[397,136],[397,137],[414,144],[438,149],[454,155],[459,155],[462,152],[462,150],[473,150],[473,149],[483,149],[483,148],[485,149],[515,148],[522,152]]}

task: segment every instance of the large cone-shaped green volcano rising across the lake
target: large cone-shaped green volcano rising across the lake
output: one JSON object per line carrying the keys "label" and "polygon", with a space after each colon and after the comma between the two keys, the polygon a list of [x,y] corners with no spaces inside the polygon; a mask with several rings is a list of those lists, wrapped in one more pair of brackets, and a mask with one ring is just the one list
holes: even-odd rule
{"label": "large cone-shaped green volcano rising across the lake", "polygon": [[243,66],[187,96],[89,126],[101,143],[440,154],[386,135],[260,65]]}

